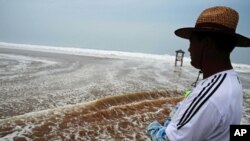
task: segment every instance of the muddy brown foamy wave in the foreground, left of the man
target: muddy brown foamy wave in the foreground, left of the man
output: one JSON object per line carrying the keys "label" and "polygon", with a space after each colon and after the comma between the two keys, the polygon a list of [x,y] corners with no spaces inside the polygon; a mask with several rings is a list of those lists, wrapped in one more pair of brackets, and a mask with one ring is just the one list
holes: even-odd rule
{"label": "muddy brown foamy wave in the foreground, left of the man", "polygon": [[147,140],[147,125],[167,118],[180,93],[124,94],[11,117],[0,120],[0,139]]}

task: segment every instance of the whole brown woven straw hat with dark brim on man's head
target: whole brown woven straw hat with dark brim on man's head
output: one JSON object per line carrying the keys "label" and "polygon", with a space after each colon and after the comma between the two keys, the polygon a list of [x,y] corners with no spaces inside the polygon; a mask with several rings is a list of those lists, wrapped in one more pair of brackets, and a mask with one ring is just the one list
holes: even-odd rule
{"label": "whole brown woven straw hat with dark brim on man's head", "polygon": [[180,28],[175,34],[189,39],[193,31],[221,32],[236,38],[236,46],[250,47],[250,39],[235,33],[239,15],[232,8],[224,6],[211,7],[204,10],[198,17],[195,27]]}

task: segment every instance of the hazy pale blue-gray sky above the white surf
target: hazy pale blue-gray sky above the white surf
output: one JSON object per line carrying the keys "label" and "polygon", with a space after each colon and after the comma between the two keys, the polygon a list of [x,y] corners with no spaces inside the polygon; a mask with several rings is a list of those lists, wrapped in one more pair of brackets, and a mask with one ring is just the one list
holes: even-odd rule
{"label": "hazy pale blue-gray sky above the white surf", "polygon": [[[174,55],[189,44],[174,31],[216,5],[236,9],[237,32],[250,37],[249,0],[0,0],[0,41]],[[250,64],[249,54],[232,60]]]}

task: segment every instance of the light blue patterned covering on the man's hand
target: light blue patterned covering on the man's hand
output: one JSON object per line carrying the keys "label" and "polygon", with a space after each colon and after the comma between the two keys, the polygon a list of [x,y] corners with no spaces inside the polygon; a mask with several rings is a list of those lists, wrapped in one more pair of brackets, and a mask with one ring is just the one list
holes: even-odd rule
{"label": "light blue patterned covering on the man's hand", "polygon": [[148,125],[147,133],[152,141],[165,141],[167,134],[166,127],[162,126],[159,122],[154,121]]}

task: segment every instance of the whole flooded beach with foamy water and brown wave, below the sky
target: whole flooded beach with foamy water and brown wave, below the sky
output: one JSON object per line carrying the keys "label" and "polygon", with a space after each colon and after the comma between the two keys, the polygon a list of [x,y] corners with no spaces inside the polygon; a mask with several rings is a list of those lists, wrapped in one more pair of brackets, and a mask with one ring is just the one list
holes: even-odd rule
{"label": "whole flooded beach with foamy water and brown wave, below the sky", "polygon": [[[149,140],[192,89],[184,58],[117,51],[0,44],[0,140]],[[250,66],[234,64],[250,123]],[[201,79],[201,78],[200,78]]]}

